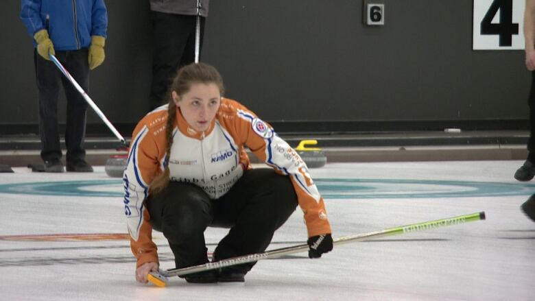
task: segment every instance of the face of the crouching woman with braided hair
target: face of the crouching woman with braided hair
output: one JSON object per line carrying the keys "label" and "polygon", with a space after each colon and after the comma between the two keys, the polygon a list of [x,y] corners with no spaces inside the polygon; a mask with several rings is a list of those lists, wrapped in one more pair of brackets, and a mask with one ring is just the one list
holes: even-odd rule
{"label": "face of the crouching woman with braided hair", "polygon": [[221,94],[216,84],[192,84],[181,97],[175,91],[171,94],[191,128],[198,132],[208,130],[221,104]]}

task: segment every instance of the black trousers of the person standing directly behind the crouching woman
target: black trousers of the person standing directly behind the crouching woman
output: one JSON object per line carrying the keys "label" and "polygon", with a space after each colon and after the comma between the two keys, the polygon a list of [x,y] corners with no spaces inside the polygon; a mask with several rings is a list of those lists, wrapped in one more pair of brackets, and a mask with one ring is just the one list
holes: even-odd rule
{"label": "black trousers of the person standing directly behind the crouching woman", "polygon": [[[177,69],[195,59],[195,18],[196,16],[152,12],[154,53],[150,87],[151,110],[167,103],[167,90]],[[201,28],[204,28],[204,21],[202,25]]]}

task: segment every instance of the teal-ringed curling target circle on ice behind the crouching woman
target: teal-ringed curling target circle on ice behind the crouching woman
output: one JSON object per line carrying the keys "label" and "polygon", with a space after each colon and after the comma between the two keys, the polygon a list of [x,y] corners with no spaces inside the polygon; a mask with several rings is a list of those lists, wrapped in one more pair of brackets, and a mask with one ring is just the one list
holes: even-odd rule
{"label": "teal-ringed curling target circle on ice behind the crouching woman", "polygon": [[[317,178],[324,199],[438,198],[531,195],[535,184],[456,180]],[[81,197],[123,197],[119,179],[0,184],[0,193]]]}

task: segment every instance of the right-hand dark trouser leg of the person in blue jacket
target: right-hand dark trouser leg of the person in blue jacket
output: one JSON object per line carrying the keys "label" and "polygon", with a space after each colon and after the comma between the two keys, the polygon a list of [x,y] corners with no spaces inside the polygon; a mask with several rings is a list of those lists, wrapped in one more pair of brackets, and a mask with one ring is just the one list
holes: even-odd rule
{"label": "right-hand dark trouser leg of the person in blue jacket", "polygon": [[[59,51],[58,51],[59,52]],[[74,77],[80,87],[89,93],[89,63],[88,49],[76,51],[61,51],[58,60]],[[87,101],[76,90],[73,84],[62,76],[63,88],[67,97],[67,126],[65,128],[65,145],[67,146],[67,162],[84,160],[86,150],[84,139],[86,136]]]}

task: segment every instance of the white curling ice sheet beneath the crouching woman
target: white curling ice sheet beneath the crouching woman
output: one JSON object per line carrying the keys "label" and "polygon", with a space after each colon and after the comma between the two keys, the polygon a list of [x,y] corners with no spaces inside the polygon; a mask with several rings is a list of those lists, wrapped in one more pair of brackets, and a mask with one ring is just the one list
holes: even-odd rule
{"label": "white curling ice sheet beneath the crouching woman", "polygon": [[[311,175],[333,237],[479,211],[487,219],[348,243],[319,260],[303,253],[259,261],[245,285],[169,278],[163,289],[134,280],[120,179],[104,167],[57,175],[14,168],[0,174],[0,299],[533,300],[535,223],[519,206],[535,182],[512,178],[521,163],[328,163]],[[206,231],[209,252],[225,233]],[[306,235],[296,210],[268,250]],[[154,242],[162,268],[172,268],[163,236],[154,233]]]}

